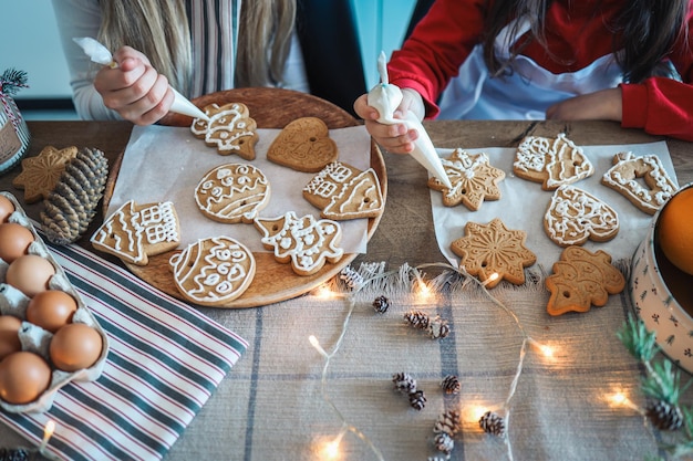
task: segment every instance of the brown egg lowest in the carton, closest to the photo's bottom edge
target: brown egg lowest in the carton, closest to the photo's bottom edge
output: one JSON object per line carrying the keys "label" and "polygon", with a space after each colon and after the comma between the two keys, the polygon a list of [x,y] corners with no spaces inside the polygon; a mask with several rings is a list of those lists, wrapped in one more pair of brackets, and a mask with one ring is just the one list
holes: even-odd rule
{"label": "brown egg lowest in the carton, closest to the photo's bottom edge", "polygon": [[38,354],[19,352],[0,362],[0,398],[9,404],[29,404],[50,384],[51,367]]}

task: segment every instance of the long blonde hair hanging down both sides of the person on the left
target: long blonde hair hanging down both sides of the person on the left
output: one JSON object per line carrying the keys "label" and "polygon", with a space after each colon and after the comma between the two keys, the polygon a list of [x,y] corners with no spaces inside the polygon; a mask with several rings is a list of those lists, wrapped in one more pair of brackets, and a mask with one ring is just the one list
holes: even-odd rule
{"label": "long blonde hair hanging down both sides of the person on the left", "polygon": [[[100,0],[100,40],[110,50],[130,45],[148,59],[169,83],[189,94],[192,45],[185,0]],[[296,0],[241,3],[236,50],[236,86],[282,81],[296,22]]]}

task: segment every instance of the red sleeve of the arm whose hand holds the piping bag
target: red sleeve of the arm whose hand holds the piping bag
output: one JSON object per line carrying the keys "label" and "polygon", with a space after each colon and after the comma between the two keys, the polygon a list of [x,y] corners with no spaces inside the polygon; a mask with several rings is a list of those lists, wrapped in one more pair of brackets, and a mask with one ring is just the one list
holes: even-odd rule
{"label": "red sleeve of the arm whose hand holds the piping bag", "polygon": [[480,40],[484,3],[435,1],[402,49],[392,53],[390,82],[421,93],[427,117],[437,115],[435,101]]}

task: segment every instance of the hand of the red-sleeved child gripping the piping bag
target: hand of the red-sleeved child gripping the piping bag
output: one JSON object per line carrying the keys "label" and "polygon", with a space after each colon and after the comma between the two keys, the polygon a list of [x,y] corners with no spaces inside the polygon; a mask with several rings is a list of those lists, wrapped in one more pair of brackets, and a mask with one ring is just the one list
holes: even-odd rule
{"label": "hand of the red-sleeved child gripping the piping bag", "polygon": [[[394,113],[395,118],[404,118],[406,112],[414,112],[421,119],[424,114],[424,104],[421,95],[413,90],[402,88],[402,103]],[[377,111],[368,105],[368,95],[360,96],[354,102],[354,112],[365,121],[365,129],[373,136],[375,143],[393,154],[408,154],[414,149],[414,140],[418,138],[415,129],[407,129],[403,123],[384,125],[376,119]]]}

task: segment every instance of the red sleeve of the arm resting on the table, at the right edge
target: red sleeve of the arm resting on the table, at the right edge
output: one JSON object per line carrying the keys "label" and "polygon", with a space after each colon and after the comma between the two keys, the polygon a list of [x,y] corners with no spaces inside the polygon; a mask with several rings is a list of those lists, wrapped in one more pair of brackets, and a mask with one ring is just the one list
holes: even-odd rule
{"label": "red sleeve of the arm resting on the table, at the right edge", "polygon": [[624,128],[693,142],[693,0],[689,10],[687,36],[679,40],[671,54],[682,82],[652,77],[621,85]]}

